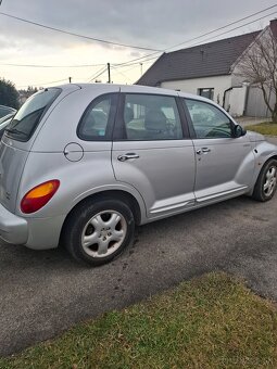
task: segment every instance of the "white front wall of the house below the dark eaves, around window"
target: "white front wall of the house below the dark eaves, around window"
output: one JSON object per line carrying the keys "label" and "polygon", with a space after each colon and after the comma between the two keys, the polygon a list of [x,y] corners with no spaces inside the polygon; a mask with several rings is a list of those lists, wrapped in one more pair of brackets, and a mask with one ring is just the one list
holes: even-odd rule
{"label": "white front wall of the house below the dark eaves, around window", "polygon": [[199,88],[214,88],[214,101],[217,102],[217,97],[219,97],[219,104],[222,105],[224,91],[231,87],[231,76],[169,80],[162,82],[161,87],[193,94],[198,94]]}

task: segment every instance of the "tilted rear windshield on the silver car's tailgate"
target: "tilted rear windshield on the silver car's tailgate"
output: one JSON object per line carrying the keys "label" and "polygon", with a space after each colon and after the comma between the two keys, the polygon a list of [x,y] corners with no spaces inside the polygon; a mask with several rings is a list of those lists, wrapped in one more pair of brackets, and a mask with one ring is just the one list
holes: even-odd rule
{"label": "tilted rear windshield on the silver car's tailgate", "polygon": [[59,88],[49,88],[32,96],[7,127],[5,135],[17,141],[28,141],[40,119],[60,92],[61,89]]}

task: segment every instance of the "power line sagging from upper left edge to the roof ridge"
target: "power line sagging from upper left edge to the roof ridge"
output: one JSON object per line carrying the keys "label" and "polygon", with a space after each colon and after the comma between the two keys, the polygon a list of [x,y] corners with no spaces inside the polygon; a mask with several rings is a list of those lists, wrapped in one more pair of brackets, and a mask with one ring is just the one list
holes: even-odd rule
{"label": "power line sagging from upper left edge to the roof ridge", "polygon": [[55,27],[50,27],[50,26],[47,26],[47,25],[45,25],[45,24],[42,24],[42,23],[28,21],[28,20],[18,17],[18,16],[15,16],[15,15],[11,15],[11,14],[8,14],[8,13],[3,13],[3,12],[0,12],[0,14],[1,14],[1,15],[4,15],[4,16],[8,16],[8,17],[10,17],[10,18],[20,21],[20,22],[33,24],[33,25],[38,26],[38,27],[41,27],[41,28],[47,28],[47,29],[55,30],[55,31],[61,33],[61,34],[71,35],[71,36],[84,38],[84,39],[91,40],[91,41],[96,41],[96,42],[109,43],[109,44],[119,46],[119,47],[124,47],[124,48],[139,49],[139,50],[160,51],[160,50],[152,49],[152,48],[144,48],[144,47],[138,47],[138,46],[128,44],[128,43],[121,43],[121,42],[108,41],[108,40],[103,40],[103,39],[96,38],[96,37],[90,37],[90,36],[85,36],[85,35],[80,35],[80,34],[75,34],[75,33],[72,33],[72,31],[68,31],[68,30],[64,30],[64,29],[55,28]]}

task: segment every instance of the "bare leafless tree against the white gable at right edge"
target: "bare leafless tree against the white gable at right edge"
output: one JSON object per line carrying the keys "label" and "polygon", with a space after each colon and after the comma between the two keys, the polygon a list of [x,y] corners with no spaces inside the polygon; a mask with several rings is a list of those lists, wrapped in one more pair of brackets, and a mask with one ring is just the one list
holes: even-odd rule
{"label": "bare leafless tree against the white gable at right edge", "polygon": [[272,119],[277,123],[277,39],[270,26],[241,55],[235,74],[262,90]]}

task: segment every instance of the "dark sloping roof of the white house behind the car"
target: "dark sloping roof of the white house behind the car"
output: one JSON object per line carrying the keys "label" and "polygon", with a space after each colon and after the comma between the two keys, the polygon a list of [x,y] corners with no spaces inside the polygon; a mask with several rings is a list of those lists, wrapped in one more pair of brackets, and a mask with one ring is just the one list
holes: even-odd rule
{"label": "dark sloping roof of the white house behind the car", "polygon": [[163,53],[137,85],[159,86],[165,80],[228,75],[260,31]]}

